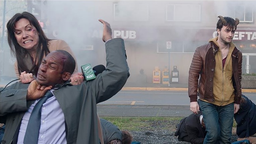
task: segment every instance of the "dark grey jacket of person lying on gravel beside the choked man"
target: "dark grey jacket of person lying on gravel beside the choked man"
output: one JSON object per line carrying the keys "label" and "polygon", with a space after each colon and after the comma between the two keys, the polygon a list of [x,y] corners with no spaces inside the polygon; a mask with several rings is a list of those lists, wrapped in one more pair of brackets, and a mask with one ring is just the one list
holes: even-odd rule
{"label": "dark grey jacket of person lying on gravel beside the choked man", "polygon": [[120,140],[122,142],[122,132],[111,122],[101,119],[101,128],[104,144],[108,144],[112,140]]}

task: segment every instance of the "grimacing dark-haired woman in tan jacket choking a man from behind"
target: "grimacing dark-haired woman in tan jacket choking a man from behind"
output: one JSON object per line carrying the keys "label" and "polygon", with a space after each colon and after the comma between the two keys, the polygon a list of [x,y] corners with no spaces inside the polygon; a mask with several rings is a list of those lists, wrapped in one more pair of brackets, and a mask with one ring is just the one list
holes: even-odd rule
{"label": "grimacing dark-haired woman in tan jacket choking a man from behind", "polygon": [[[16,13],[8,21],[7,30],[11,53],[17,59],[14,65],[15,73],[22,83],[34,80],[33,75],[37,75],[43,58],[51,51],[65,50],[74,57],[65,41],[50,40],[46,37],[37,18],[31,13]],[[73,77],[70,78],[72,84],[80,84],[83,81],[82,73],[77,72],[76,63]]]}

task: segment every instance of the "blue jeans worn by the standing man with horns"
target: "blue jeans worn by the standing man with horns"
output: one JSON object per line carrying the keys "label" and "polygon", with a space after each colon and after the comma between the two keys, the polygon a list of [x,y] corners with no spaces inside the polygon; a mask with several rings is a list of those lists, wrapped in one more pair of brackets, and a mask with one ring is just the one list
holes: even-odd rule
{"label": "blue jeans worn by the standing man with horns", "polygon": [[207,131],[204,144],[231,144],[234,103],[217,106],[200,99],[198,103]]}

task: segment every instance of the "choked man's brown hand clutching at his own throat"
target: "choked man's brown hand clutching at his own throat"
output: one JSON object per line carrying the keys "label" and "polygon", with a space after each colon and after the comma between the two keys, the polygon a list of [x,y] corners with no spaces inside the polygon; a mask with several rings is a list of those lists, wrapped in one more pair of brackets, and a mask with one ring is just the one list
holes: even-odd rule
{"label": "choked man's brown hand clutching at his own throat", "polygon": [[27,100],[39,99],[50,89],[52,89],[52,86],[41,86],[36,80],[33,80],[27,88]]}

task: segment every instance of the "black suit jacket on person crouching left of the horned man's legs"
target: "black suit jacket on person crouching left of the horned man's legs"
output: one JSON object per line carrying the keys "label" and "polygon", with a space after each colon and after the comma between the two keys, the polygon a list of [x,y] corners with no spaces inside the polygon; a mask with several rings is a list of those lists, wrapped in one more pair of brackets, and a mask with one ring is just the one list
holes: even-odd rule
{"label": "black suit jacket on person crouching left of the horned man's legs", "polygon": [[203,143],[206,132],[200,123],[201,114],[202,112],[200,111],[198,114],[191,114],[181,119],[175,132],[175,136],[178,136],[179,141],[186,141],[192,144]]}

